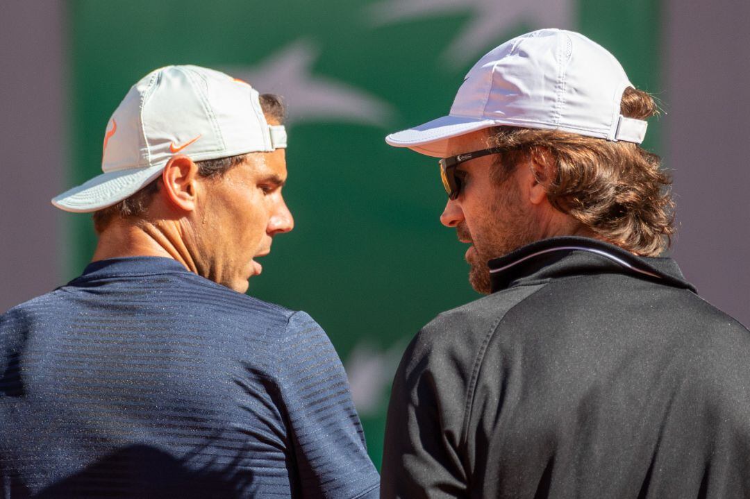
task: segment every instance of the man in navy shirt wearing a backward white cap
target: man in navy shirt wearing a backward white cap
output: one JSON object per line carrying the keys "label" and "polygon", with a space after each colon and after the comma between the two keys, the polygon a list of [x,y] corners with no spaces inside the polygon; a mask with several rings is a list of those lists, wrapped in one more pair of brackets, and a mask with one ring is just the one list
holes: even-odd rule
{"label": "man in navy shirt wearing a backward white cap", "polygon": [[194,66],[133,85],[93,262],[0,316],[0,497],[374,498],[347,378],[305,312],[245,295],[293,228],[284,107]]}

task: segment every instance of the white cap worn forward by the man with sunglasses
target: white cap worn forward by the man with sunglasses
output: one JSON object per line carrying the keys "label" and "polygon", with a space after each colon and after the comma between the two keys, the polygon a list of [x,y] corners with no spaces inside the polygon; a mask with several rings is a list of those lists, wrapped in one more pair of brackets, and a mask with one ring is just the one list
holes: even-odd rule
{"label": "white cap worn forward by the man with sunglasses", "polygon": [[451,137],[511,125],[640,144],[646,121],[619,112],[622,92],[631,86],[616,58],[582,34],[532,31],[479,59],[449,115],[392,133],[386,142],[446,157]]}

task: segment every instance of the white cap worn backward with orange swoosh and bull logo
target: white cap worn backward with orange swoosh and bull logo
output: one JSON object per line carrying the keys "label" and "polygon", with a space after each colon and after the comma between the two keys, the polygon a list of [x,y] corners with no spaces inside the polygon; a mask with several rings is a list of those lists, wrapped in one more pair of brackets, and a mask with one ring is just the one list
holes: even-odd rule
{"label": "white cap worn backward with orange swoosh and bull logo", "polygon": [[248,83],[205,67],[161,67],[130,88],[107,123],[104,173],[52,205],[74,212],[107,208],[157,178],[175,154],[202,161],[286,147],[286,130],[266,122]]}

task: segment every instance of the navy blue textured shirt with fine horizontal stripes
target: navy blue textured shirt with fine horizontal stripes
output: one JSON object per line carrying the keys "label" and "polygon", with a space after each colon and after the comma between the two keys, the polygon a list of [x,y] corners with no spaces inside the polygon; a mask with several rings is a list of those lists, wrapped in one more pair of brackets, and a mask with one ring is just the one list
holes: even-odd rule
{"label": "navy blue textured shirt with fine horizontal stripes", "polygon": [[375,498],[305,312],[169,258],[98,261],[0,315],[0,498]]}

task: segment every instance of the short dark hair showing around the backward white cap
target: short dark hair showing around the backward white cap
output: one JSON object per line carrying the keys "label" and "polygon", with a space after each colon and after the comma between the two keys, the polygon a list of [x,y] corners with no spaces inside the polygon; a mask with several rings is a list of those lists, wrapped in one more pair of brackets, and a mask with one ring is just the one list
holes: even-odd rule
{"label": "short dark hair showing around the backward white cap", "polygon": [[[263,114],[266,115],[266,121],[275,124],[284,123],[284,120],[287,118],[287,106],[284,105],[284,100],[281,96],[262,94],[259,100]],[[248,154],[239,154],[237,156],[220,157],[215,160],[196,161],[195,164],[198,167],[198,175],[201,177],[221,178],[230,169],[244,163],[247,157]],[[96,233],[101,234],[115,218],[139,217],[144,214],[148,206],[151,205],[151,200],[159,192],[160,186],[161,177],[159,176],[154,181],[145,185],[145,187],[142,187],[138,192],[123,199],[116,205],[95,211],[92,218],[94,219],[94,230]]]}

